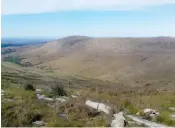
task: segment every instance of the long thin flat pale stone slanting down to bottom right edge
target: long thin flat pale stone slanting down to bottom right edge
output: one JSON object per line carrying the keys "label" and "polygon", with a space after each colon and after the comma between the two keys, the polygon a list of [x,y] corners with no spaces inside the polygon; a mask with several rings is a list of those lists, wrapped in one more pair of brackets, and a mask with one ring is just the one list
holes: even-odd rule
{"label": "long thin flat pale stone slanting down to bottom right edge", "polygon": [[155,122],[151,122],[142,118],[139,118],[137,116],[132,116],[132,115],[127,115],[127,117],[131,118],[132,120],[134,120],[137,124],[144,124],[147,127],[168,127],[166,125],[163,124],[158,124]]}

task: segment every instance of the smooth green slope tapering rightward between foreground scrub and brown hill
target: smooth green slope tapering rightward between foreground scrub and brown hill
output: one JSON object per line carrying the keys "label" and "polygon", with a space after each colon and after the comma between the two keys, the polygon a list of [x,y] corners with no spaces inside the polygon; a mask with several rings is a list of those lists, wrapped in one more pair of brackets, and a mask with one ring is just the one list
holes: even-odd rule
{"label": "smooth green slope tapering rightward between foreground scrub and brown hill", "polygon": [[[10,62],[2,61],[2,81],[18,85],[33,84],[36,87],[49,88],[55,84],[61,84],[65,88],[95,88],[100,87],[107,90],[122,87],[110,82],[103,82],[98,79],[89,79],[80,76],[63,77],[52,70],[42,70],[34,67],[23,67]],[[3,83],[2,83],[3,86]]]}

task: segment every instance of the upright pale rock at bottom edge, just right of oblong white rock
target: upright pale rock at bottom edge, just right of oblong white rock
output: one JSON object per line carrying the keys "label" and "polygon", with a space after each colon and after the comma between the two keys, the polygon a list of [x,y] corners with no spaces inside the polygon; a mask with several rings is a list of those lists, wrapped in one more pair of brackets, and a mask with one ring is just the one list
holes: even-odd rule
{"label": "upright pale rock at bottom edge, just right of oblong white rock", "polygon": [[119,112],[118,114],[114,114],[114,120],[112,120],[112,127],[124,127],[125,125],[125,117],[123,116],[123,112]]}

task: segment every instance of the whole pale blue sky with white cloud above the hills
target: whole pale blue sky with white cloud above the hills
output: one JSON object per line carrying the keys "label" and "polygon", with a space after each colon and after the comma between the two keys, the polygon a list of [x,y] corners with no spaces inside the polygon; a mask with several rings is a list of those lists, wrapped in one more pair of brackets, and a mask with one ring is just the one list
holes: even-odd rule
{"label": "whole pale blue sky with white cloud above the hills", "polygon": [[2,37],[175,36],[175,0],[3,0]]}

